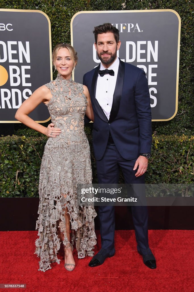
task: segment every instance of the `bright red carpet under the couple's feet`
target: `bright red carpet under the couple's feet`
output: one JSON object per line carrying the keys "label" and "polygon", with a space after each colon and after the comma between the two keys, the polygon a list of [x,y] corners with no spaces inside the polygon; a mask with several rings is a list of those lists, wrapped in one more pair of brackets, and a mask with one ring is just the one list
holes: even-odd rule
{"label": "bright red carpet under the couple's feet", "polygon": [[[60,265],[38,271],[38,258],[34,255],[37,231],[0,232],[0,283],[25,284],[26,289],[3,288],[1,291],[35,292],[193,292],[194,231],[150,230],[149,245],[156,257],[156,270],[143,264],[137,253],[133,230],[120,230],[115,234],[115,256],[103,265],[90,268],[91,258],[77,259],[75,270],[64,268],[63,248],[59,251]],[[97,231],[98,243],[100,241]],[[95,252],[97,251],[96,247]]]}

